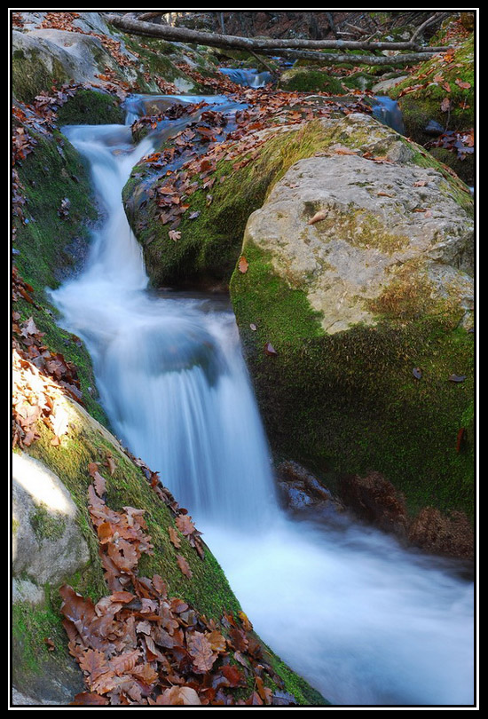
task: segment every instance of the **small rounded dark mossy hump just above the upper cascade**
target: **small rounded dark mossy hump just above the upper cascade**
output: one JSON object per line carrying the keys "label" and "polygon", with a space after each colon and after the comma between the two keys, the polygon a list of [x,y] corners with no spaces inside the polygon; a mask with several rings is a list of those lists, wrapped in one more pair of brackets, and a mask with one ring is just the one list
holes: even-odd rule
{"label": "small rounded dark mossy hump just above the upper cascade", "polygon": [[59,125],[123,124],[124,112],[112,95],[94,90],[80,90],[59,107]]}

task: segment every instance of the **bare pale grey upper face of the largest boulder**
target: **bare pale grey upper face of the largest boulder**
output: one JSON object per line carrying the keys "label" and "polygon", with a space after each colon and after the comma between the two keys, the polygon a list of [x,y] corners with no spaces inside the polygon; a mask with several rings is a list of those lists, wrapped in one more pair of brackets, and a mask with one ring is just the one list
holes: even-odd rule
{"label": "bare pale grey upper face of the largest boulder", "polygon": [[328,333],[374,324],[399,282],[428,293],[421,302],[468,312],[473,301],[473,221],[429,168],[354,154],[297,162],[249,217],[247,244],[303,289]]}

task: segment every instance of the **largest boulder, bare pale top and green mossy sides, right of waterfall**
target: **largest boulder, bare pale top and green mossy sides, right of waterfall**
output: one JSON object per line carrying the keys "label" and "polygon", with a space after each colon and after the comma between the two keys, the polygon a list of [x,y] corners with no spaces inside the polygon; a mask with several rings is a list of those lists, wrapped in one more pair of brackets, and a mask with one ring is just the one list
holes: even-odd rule
{"label": "largest boulder, bare pale top and green mossy sides, right of waterfall", "polygon": [[472,518],[473,454],[457,444],[474,380],[471,200],[414,162],[296,163],[248,220],[232,304],[279,454],[336,492],[344,473],[378,472],[411,519]]}

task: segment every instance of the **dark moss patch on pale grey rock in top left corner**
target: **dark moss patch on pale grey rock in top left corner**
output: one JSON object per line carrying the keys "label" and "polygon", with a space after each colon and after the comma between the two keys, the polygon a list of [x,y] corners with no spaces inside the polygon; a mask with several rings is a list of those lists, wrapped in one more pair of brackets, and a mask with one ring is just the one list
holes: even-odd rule
{"label": "dark moss patch on pale grey rock in top left corner", "polygon": [[71,79],[59,59],[51,58],[51,71],[37,57],[35,51],[16,50],[12,55],[12,93],[21,102],[31,103],[42,91],[50,91],[53,84]]}

